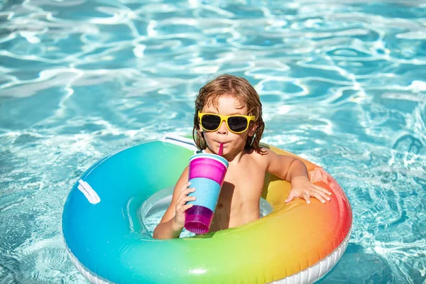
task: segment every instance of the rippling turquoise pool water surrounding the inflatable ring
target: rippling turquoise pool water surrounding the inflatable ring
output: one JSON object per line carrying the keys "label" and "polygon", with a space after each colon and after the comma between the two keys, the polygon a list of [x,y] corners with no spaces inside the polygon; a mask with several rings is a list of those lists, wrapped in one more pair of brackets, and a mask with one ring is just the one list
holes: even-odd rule
{"label": "rippling turquoise pool water surrounding the inflatable ring", "polygon": [[104,155],[190,133],[198,89],[222,73],[260,94],[263,142],[322,165],[349,197],[348,249],[320,283],[426,283],[425,1],[0,11],[0,283],[86,283],[62,242],[72,185]]}

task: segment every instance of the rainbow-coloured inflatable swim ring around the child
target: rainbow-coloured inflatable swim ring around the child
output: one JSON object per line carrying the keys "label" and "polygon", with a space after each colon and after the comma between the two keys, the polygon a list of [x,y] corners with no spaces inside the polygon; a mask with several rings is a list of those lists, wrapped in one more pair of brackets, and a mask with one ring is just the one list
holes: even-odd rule
{"label": "rainbow-coloured inflatable swim ring around the child", "polygon": [[337,182],[307,160],[310,179],[332,191],[331,202],[284,204],[290,184],[266,175],[263,198],[272,209],[265,217],[153,239],[145,215],[170,204],[163,189],[173,187],[195,151],[190,138],[143,143],[100,160],[72,187],[62,232],[72,263],[91,283],[313,283],[342,257],[351,207]]}

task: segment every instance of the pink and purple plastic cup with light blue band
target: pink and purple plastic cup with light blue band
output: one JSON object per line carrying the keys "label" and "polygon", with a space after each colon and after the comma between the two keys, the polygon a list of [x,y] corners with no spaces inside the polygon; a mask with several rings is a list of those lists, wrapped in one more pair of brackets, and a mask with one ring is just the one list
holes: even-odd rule
{"label": "pink and purple plastic cup with light blue band", "polygon": [[190,196],[197,197],[197,200],[188,202],[194,206],[185,212],[185,229],[205,234],[212,224],[228,161],[220,155],[196,154],[190,158],[189,170],[190,187],[195,188]]}

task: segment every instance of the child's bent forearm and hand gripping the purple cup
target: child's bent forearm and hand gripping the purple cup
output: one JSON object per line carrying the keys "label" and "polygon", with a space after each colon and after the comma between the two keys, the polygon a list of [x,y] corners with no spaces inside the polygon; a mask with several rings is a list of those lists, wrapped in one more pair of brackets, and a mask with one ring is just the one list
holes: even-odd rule
{"label": "child's bent forearm and hand gripping the purple cup", "polygon": [[175,239],[179,237],[185,225],[185,211],[192,207],[192,204],[186,204],[186,202],[195,200],[195,197],[187,196],[190,192],[195,191],[194,188],[188,188],[189,186],[188,168],[185,168],[178,182],[176,182],[170,206],[165,210],[160,224],[154,229],[154,239]]}

